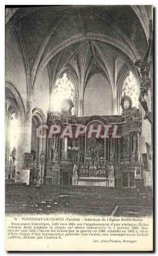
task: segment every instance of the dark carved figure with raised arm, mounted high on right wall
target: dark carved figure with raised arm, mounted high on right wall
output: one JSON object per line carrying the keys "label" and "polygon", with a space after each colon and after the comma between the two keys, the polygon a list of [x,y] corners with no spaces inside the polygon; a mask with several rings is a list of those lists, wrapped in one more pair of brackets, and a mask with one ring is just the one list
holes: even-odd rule
{"label": "dark carved figure with raised arm, mounted high on right wall", "polygon": [[151,39],[149,39],[148,49],[146,51],[146,54],[144,55],[144,59],[138,60],[135,62],[136,67],[139,68],[139,73],[142,80],[140,84],[140,94],[139,94],[138,101],[140,102],[141,106],[144,108],[144,111],[145,111],[144,119],[149,119],[150,123],[151,123],[150,111],[148,109],[148,105],[144,96],[148,96],[148,90],[150,90],[150,78],[149,78],[150,64],[148,59],[150,55],[151,44],[152,44],[152,41]]}

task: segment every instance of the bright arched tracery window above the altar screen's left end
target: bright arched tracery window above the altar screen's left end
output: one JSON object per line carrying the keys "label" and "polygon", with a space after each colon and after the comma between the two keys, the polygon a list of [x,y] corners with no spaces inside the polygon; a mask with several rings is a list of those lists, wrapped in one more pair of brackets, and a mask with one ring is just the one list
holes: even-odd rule
{"label": "bright arched tracery window above the altar screen's left end", "polygon": [[[61,103],[64,100],[71,100],[75,105],[75,88],[68,79],[67,74],[64,73],[61,78],[57,79],[53,94],[53,109],[54,111],[61,111]],[[72,108],[71,113],[75,114],[75,107]]]}

